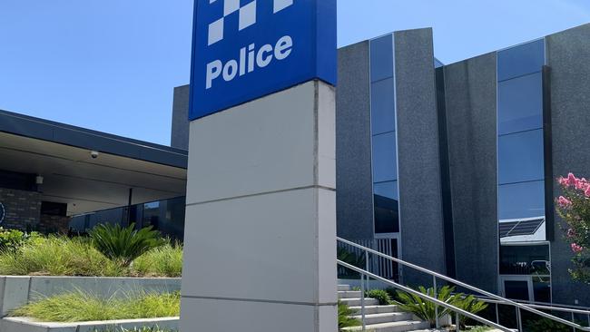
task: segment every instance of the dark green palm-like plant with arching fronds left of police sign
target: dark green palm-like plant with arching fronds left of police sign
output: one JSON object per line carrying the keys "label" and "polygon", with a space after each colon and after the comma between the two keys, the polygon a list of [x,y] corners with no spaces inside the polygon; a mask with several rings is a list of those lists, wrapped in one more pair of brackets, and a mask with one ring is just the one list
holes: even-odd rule
{"label": "dark green palm-like plant with arching fronds left of police sign", "polygon": [[129,227],[121,225],[102,224],[89,231],[93,239],[93,246],[108,259],[129,267],[134,259],[145,252],[160,247],[166,243],[160,237],[160,232],[152,230],[152,226],[135,229],[135,224]]}

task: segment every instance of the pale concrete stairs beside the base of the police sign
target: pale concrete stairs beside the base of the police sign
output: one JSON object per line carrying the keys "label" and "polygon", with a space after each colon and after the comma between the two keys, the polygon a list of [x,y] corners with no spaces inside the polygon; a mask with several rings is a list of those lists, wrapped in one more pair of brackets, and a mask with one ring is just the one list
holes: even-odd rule
{"label": "pale concrete stairs beside the base of the police sign", "polygon": [[[349,308],[356,310],[353,316],[360,320],[360,291],[351,290],[349,285],[338,285],[338,298]],[[365,298],[366,330],[372,332],[407,332],[428,329],[428,322],[423,322],[412,314],[402,312],[398,306],[379,306],[375,298]],[[345,327],[345,331],[360,331],[362,327]]]}

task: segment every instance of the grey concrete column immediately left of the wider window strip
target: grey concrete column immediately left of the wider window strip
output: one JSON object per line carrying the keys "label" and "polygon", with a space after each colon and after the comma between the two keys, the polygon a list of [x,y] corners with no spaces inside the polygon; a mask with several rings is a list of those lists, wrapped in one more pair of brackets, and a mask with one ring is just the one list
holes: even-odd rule
{"label": "grey concrete column immediately left of the wider window strip", "polygon": [[497,293],[497,54],[445,67],[457,279]]}

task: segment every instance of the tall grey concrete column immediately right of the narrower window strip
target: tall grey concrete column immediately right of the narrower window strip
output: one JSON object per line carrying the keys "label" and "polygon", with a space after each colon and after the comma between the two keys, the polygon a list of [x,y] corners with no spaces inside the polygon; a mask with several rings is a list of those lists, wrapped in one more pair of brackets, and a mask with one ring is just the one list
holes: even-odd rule
{"label": "tall grey concrete column immediately right of the narrower window strip", "polygon": [[[395,33],[401,257],[446,273],[432,29]],[[409,285],[432,278],[404,269]]]}

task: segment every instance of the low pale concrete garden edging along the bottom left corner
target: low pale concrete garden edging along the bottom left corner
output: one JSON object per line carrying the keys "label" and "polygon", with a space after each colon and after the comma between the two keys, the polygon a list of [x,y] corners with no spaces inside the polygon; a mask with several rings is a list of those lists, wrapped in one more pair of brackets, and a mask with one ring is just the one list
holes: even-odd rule
{"label": "low pale concrete garden edging along the bottom left corner", "polygon": [[150,319],[104,320],[80,323],[40,323],[26,317],[7,317],[0,320],[2,332],[103,332],[116,328],[162,327],[178,330],[179,317]]}

